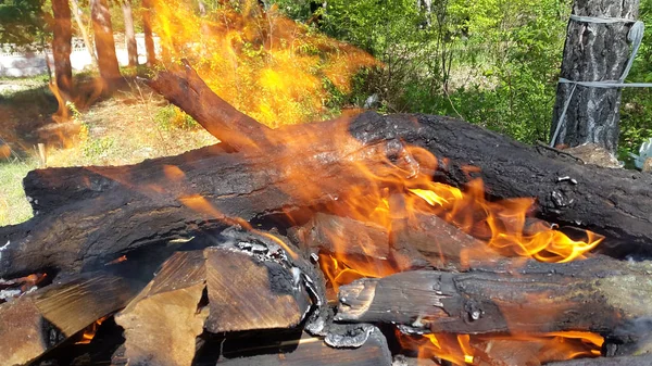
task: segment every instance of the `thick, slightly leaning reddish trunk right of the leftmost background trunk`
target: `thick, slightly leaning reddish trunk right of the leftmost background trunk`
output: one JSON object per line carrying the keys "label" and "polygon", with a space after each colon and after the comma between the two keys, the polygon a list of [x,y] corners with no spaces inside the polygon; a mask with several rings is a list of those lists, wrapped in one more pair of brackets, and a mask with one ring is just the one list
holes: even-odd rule
{"label": "thick, slightly leaning reddish trunk right of the leftmost background trunk", "polygon": [[98,66],[105,87],[115,86],[122,78],[115,55],[115,41],[111,26],[111,14],[106,0],[91,0],[90,14],[95,31],[96,50],[98,51]]}

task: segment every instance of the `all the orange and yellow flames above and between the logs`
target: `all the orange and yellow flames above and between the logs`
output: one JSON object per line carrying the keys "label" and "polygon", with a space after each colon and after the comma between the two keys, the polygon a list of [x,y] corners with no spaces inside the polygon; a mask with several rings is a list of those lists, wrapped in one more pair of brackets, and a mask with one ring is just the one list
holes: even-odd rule
{"label": "all the orange and yellow flames above and between the logs", "polygon": [[[324,79],[346,91],[347,80],[355,71],[378,64],[360,50],[285,18],[274,7],[262,12],[254,3],[247,1],[240,9],[221,4],[200,17],[186,2],[156,1],[154,28],[162,40],[164,64],[180,58],[200,60],[193,62],[198,64],[200,76],[218,96],[273,128],[314,119],[324,112],[327,96]],[[333,197],[331,202],[325,203],[325,211],[379,226],[388,235],[397,219],[436,215],[486,241],[487,248],[497,253],[542,262],[584,258],[602,240],[589,231],[586,240],[574,240],[542,222],[531,220],[534,199],[490,201],[480,179],[471,180],[463,189],[432,181],[438,160],[425,149],[402,147],[388,154],[387,147],[369,147],[354,139],[344,119],[335,126],[328,137],[317,130],[312,134],[310,128],[298,137],[292,134],[266,137],[289,156],[288,161],[274,162],[283,177],[284,193],[312,202],[324,191],[341,191],[331,189],[334,185],[340,187],[340,180],[314,179],[310,171],[321,166],[311,162],[341,162],[353,166],[356,181],[347,194]],[[324,148],[321,150],[321,147]],[[472,171],[477,168],[468,167],[468,172]],[[185,178],[174,166],[165,167],[165,174],[171,181]],[[177,199],[206,219],[250,228],[237,217],[227,217],[201,194]],[[391,248],[368,243],[359,248],[360,255],[349,255],[349,249],[361,244],[350,242],[337,230],[327,236],[333,250],[319,254],[319,266],[334,291],[358,278],[385,277],[409,269],[401,264],[406,262],[397,258],[400,254],[392,253]],[[290,255],[297,255],[283,241],[278,243]],[[538,342],[542,359],[563,359],[556,358],[560,354],[565,358],[594,355],[602,344],[597,335],[576,332],[503,338],[412,337],[399,332],[397,337],[405,350],[417,350],[422,357],[447,359],[456,365],[474,364],[481,352],[490,352],[492,344],[502,340]]]}

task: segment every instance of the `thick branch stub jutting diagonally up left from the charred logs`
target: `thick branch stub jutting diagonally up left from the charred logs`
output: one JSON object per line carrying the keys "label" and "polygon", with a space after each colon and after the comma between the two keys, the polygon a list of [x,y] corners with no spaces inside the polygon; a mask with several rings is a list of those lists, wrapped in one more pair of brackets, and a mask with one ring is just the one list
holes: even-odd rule
{"label": "thick branch stub jutting diagonally up left from the charred logs", "polygon": [[266,144],[271,129],[215,94],[187,62],[184,72],[160,72],[148,85],[229,147],[242,150]]}

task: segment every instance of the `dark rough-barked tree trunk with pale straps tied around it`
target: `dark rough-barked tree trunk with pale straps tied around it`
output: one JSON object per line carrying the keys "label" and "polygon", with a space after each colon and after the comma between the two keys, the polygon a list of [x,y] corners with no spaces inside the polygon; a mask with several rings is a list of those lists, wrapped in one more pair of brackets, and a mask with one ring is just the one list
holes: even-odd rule
{"label": "dark rough-barked tree trunk with pale straps tied around it", "polygon": [[[573,14],[627,18],[634,23],[638,9],[639,0],[576,0]],[[570,20],[561,77],[572,81],[618,80],[630,53],[627,34],[632,23],[598,24]],[[568,109],[562,119],[566,103]],[[560,83],[551,129],[553,139],[557,125],[561,124],[561,127],[553,143],[576,147],[592,142],[615,152],[618,144],[619,105],[618,88]]]}

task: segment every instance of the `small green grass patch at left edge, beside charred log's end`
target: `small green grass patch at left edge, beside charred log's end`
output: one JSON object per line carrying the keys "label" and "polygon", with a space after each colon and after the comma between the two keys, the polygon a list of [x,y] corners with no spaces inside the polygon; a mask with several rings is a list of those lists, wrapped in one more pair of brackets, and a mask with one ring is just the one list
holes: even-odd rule
{"label": "small green grass patch at left edge, beside charred log's end", "polygon": [[32,206],[23,191],[23,178],[36,168],[34,160],[0,163],[0,226],[22,223],[32,217]]}

